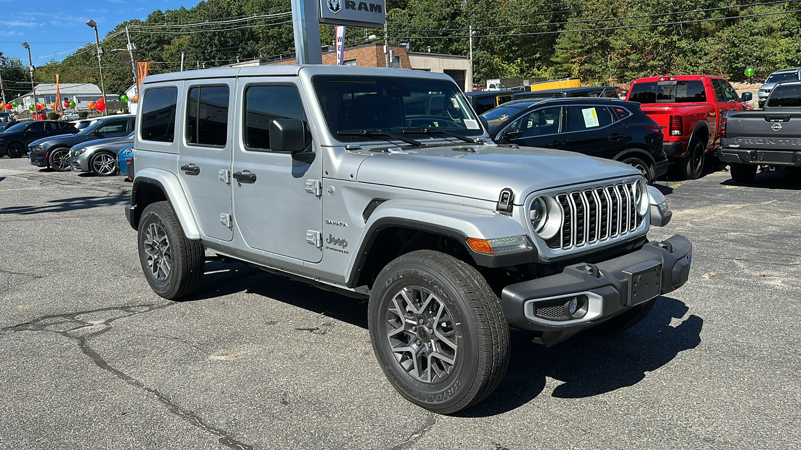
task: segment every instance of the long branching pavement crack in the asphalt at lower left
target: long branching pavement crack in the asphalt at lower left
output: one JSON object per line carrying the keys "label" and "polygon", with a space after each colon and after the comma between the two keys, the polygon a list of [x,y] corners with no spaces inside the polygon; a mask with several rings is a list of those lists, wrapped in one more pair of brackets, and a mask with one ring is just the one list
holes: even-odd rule
{"label": "long branching pavement crack in the asphalt at lower left", "polygon": [[[10,327],[0,328],[0,335],[8,332],[47,331],[51,333],[56,333],[58,335],[62,335],[70,340],[75,340],[78,343],[78,348],[80,348],[81,352],[83,352],[83,354],[86,355],[92,361],[92,363],[94,363],[97,367],[102,368],[107,372],[110,372],[112,375],[119,378],[119,380],[123,380],[125,383],[130,384],[135,388],[139,388],[145,392],[152,394],[153,396],[155,396],[156,400],[159,400],[159,403],[166,406],[167,410],[172,414],[175,414],[175,416],[179,416],[185,420],[188,420],[195,427],[200,428],[205,432],[211,433],[214,436],[217,436],[219,444],[222,444],[227,448],[238,448],[239,450],[252,450],[251,445],[239,442],[239,440],[235,440],[233,437],[228,436],[229,434],[228,432],[225,432],[220,428],[215,428],[211,426],[211,424],[207,424],[207,422],[203,420],[200,416],[198,416],[195,412],[187,408],[183,408],[181,405],[171,400],[169,396],[164,395],[155,388],[148,387],[143,382],[136,380],[134,377],[119,370],[118,368],[115,368],[111,364],[108,364],[108,362],[104,360],[103,357],[98,354],[98,352],[95,352],[95,350],[93,350],[89,346],[88,340],[98,335],[102,335],[107,331],[110,331],[111,323],[113,323],[117,319],[123,319],[125,317],[131,317],[132,315],[144,314],[158,309],[171,307],[174,304],[177,303],[145,304],[145,305],[133,305],[127,307],[103,307],[91,311],[77,311],[77,312],[68,312],[65,314],[46,315],[38,319],[31,320],[30,322],[19,323],[17,325],[12,325]],[[79,316],[82,315],[98,315],[112,311],[119,311],[122,312],[123,314],[118,314],[104,320],[79,319]],[[73,326],[70,327],[70,325]],[[101,327],[101,328],[98,331],[92,331],[85,335],[76,335],[77,331],[81,331],[84,328],[91,329],[93,327]]]}

